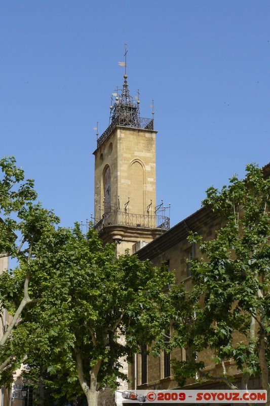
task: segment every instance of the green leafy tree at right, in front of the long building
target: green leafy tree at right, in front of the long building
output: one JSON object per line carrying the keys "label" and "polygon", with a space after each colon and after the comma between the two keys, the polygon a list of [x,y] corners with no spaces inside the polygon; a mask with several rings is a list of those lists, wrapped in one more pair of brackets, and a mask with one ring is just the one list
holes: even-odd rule
{"label": "green leafy tree at right, in front of the long building", "polygon": [[[199,375],[236,388],[225,366],[226,360],[233,359],[243,374],[240,387],[246,389],[250,377],[260,376],[269,404],[270,179],[264,179],[254,164],[247,165],[246,171],[245,180],[234,176],[221,191],[207,190],[203,205],[224,219],[215,239],[189,236],[204,256],[191,261],[192,291],[180,286],[172,293],[177,331],[173,344],[189,349],[187,360],[174,362],[174,369],[181,385],[187,377]],[[204,364],[196,360],[196,354],[206,348],[222,365],[222,376],[204,373]]]}

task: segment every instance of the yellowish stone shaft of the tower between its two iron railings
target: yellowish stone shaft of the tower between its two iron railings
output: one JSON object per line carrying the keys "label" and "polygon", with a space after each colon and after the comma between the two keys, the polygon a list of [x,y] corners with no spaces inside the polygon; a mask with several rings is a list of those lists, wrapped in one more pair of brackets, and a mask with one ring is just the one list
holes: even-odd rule
{"label": "yellowish stone shaft of the tower between its two iron railings", "polygon": [[127,213],[146,215],[152,202],[150,215],[154,214],[156,133],[117,126],[95,151],[95,218],[125,211],[128,201]]}

